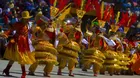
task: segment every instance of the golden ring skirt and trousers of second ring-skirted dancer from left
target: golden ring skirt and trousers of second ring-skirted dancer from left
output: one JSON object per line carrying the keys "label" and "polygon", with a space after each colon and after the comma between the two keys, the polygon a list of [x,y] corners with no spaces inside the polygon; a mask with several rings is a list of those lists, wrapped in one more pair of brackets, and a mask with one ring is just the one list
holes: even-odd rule
{"label": "golden ring skirt and trousers of second ring-skirted dancer from left", "polygon": [[68,64],[68,69],[73,70],[75,68],[75,64],[78,63],[78,52],[81,50],[79,44],[74,41],[70,41],[65,45],[58,45],[57,50],[59,52],[59,68],[63,69],[66,64]]}

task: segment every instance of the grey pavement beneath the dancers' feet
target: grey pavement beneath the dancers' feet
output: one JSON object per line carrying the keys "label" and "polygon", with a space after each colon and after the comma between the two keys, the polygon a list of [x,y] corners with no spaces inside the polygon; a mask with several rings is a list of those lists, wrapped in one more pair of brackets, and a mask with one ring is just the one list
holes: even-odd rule
{"label": "grey pavement beneath the dancers' feet", "polygon": [[[11,77],[7,77],[7,76],[2,74],[2,71],[5,68],[5,66],[7,65],[7,63],[8,63],[7,60],[0,60],[0,78],[20,78],[22,72],[21,72],[20,65],[17,62],[14,63],[13,67],[10,70]],[[29,68],[29,65],[26,65],[26,73],[27,74],[28,74],[28,68]],[[46,78],[46,77],[43,76],[43,71],[42,71],[43,68],[44,68],[44,66],[38,66],[38,68],[35,72],[35,76],[27,75],[26,78]],[[109,74],[98,75],[97,77],[94,77],[92,70],[88,70],[87,72],[83,72],[79,68],[76,68],[74,70],[74,74],[75,74],[74,78],[140,78],[139,75],[133,75],[133,76],[113,75],[113,76],[110,76]],[[55,66],[52,73],[51,73],[50,78],[72,78],[72,77],[68,76],[67,67],[64,69],[62,76],[57,75],[57,66]]]}

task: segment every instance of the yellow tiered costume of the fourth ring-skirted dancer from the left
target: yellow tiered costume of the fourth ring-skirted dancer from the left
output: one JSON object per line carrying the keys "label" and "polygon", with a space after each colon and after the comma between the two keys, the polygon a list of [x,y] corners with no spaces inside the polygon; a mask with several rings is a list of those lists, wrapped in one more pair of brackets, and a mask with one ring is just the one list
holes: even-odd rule
{"label": "yellow tiered costume of the fourth ring-skirted dancer from the left", "polygon": [[118,54],[113,50],[114,49],[113,46],[109,46],[107,44],[107,42],[105,41],[105,38],[103,40],[103,43],[106,46],[106,49],[101,49],[101,50],[104,53],[106,59],[103,64],[103,68],[100,70],[100,73],[104,74],[104,72],[107,70],[110,75],[113,75],[115,69],[119,68]]}

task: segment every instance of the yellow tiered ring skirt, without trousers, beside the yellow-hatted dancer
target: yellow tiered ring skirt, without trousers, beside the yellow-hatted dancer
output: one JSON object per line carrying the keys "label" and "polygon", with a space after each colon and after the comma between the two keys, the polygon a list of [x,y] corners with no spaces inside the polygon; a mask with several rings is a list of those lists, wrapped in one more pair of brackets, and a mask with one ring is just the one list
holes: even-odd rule
{"label": "yellow tiered ring skirt, without trousers, beside the yellow-hatted dancer", "polygon": [[57,62],[57,50],[54,48],[54,46],[45,40],[37,41],[37,43],[34,45],[35,47],[35,58],[38,64],[47,64],[47,63],[53,63],[58,64]]}

